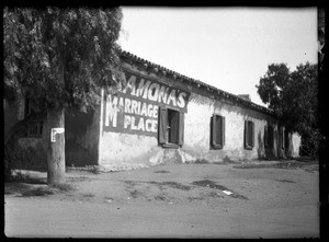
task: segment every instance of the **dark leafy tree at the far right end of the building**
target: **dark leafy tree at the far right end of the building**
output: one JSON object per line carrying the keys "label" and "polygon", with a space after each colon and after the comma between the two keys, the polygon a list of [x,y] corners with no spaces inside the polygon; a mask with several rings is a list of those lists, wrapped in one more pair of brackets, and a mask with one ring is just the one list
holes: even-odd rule
{"label": "dark leafy tree at the far right end of the building", "polygon": [[276,112],[287,130],[302,136],[303,149],[316,155],[319,146],[317,65],[306,62],[291,72],[285,64],[269,65],[260,79],[258,94]]}

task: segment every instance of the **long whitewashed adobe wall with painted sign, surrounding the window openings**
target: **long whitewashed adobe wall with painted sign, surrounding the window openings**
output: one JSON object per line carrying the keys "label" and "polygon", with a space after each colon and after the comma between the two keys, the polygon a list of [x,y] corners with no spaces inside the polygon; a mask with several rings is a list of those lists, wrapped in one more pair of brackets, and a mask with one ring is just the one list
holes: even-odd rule
{"label": "long whitewashed adobe wall with painted sign, surrounding the window openings", "polygon": [[[127,92],[129,95],[126,95],[127,93],[124,91],[120,92],[116,97],[113,93],[105,95],[100,124],[100,165],[122,163],[148,165],[193,162],[202,159],[208,162],[225,162],[280,155],[277,125],[272,115],[242,107],[224,99],[214,99],[195,87],[185,85],[166,77],[159,78],[155,73],[138,70],[128,64],[125,64],[124,68],[132,71],[133,76],[134,73],[141,74],[140,77],[145,78],[144,85],[147,80],[151,80],[148,87],[155,87],[155,83],[159,84],[159,90],[164,87],[162,90],[168,92],[168,102],[163,103],[162,100],[160,102],[160,97],[143,97],[143,94],[146,93],[143,90],[136,94],[140,80],[133,78],[134,82],[132,82],[133,76],[126,77],[128,87],[131,87],[131,91]],[[157,103],[157,101],[159,102]],[[158,112],[160,106],[166,104],[184,112],[184,142],[178,149],[162,148],[158,142]],[[212,149],[209,142],[211,117],[214,113],[226,118],[226,142],[219,150]],[[251,150],[246,150],[243,147],[246,119],[254,123],[254,147]],[[274,126],[275,140],[274,147],[271,149],[264,148],[263,137],[266,124]],[[293,136],[292,140],[296,142],[293,151],[296,154],[299,146],[298,138]]]}

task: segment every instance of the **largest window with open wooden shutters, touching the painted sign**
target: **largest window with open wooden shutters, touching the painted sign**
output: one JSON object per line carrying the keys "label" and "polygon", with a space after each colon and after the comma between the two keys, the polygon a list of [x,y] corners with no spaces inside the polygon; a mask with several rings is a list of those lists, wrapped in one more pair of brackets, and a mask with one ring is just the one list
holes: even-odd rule
{"label": "largest window with open wooden shutters, touching the painted sign", "polygon": [[184,113],[166,107],[161,107],[159,111],[159,143],[164,147],[182,146],[184,138]]}

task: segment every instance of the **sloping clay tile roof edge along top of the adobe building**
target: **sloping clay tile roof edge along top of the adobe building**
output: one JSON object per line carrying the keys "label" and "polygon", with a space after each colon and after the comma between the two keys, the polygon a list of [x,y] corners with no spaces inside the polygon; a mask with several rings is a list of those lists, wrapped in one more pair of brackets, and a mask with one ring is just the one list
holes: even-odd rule
{"label": "sloping clay tile roof edge along top of the adobe building", "polygon": [[189,81],[189,82],[191,82],[191,84],[194,84],[197,88],[204,88],[208,92],[213,92],[213,93],[217,92],[220,96],[224,96],[224,97],[226,97],[226,99],[228,99],[230,101],[234,101],[236,103],[242,104],[243,106],[247,106],[247,107],[250,107],[252,110],[257,110],[257,111],[260,111],[262,113],[266,113],[266,114],[271,114],[271,115],[276,116],[275,112],[272,111],[272,110],[269,110],[269,108],[266,108],[264,106],[261,106],[261,105],[258,105],[256,103],[252,103],[251,101],[247,101],[247,100],[245,100],[245,99],[242,99],[242,97],[240,97],[238,95],[228,93],[228,92],[223,91],[220,89],[217,89],[217,88],[215,88],[213,85],[206,84],[206,83],[204,83],[202,81],[198,81],[198,80],[195,80],[193,78],[190,78],[190,77],[183,76],[181,73],[178,73],[178,72],[175,72],[173,70],[169,70],[169,69],[167,69],[164,67],[161,67],[161,66],[159,66],[157,64],[154,64],[151,61],[145,60],[145,59],[143,59],[143,58],[136,56],[136,55],[133,55],[133,54],[128,53],[128,51],[122,50],[121,51],[121,57],[122,58],[128,58],[133,62],[139,62],[139,64],[143,64],[143,65],[146,64],[148,67],[150,67],[152,69],[157,69],[157,72],[160,71],[160,70],[161,71],[166,71],[167,74],[172,74],[172,76],[175,76],[177,78],[180,78],[180,79],[182,79],[184,81]]}

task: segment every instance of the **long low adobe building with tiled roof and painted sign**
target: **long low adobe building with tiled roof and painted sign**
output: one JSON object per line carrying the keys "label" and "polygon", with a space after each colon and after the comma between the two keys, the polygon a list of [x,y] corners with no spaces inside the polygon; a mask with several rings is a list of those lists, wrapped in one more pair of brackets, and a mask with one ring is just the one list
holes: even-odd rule
{"label": "long low adobe building with tiled roof and painted sign", "polygon": [[[148,166],[160,163],[248,161],[298,157],[300,138],[280,127],[275,114],[144,60],[121,54],[125,88],[101,90],[91,113],[67,110],[66,165]],[[33,105],[5,103],[5,130]],[[32,107],[31,107],[32,106]],[[46,120],[20,139],[25,154],[46,165]]]}

